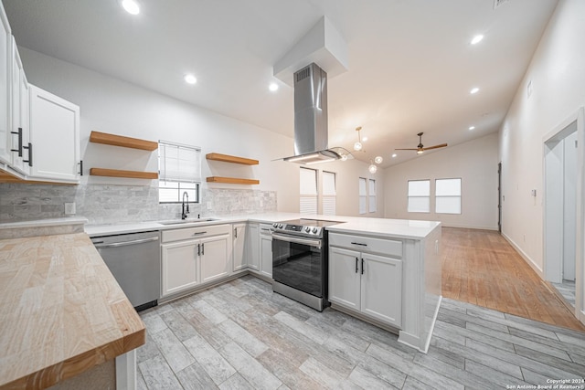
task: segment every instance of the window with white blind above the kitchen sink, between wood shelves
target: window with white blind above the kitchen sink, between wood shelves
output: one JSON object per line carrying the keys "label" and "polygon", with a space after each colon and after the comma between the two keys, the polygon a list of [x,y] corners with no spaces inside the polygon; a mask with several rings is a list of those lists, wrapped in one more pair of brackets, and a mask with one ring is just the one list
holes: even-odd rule
{"label": "window with white blind above the kitchen sink, between wood shelves", "polygon": [[158,171],[159,203],[180,203],[185,192],[189,203],[199,203],[201,149],[158,142]]}

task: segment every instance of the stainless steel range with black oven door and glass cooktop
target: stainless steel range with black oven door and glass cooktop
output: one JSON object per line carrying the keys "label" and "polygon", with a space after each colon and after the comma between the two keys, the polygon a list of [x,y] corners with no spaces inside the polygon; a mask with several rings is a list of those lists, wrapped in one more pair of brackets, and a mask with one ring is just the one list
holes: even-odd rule
{"label": "stainless steel range with black oven door and glass cooktop", "polygon": [[327,301],[327,231],[340,222],[296,219],[272,225],[272,290],[317,311]]}

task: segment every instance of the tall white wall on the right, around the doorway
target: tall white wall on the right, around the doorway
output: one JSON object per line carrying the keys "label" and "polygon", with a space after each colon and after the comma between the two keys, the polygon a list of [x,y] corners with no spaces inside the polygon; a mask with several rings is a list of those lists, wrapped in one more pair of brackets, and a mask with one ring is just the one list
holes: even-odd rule
{"label": "tall white wall on the right, around the doorway", "polygon": [[[541,274],[544,136],[585,104],[582,37],[585,2],[561,0],[499,132],[505,195],[502,232]],[[533,189],[536,198],[530,194]]]}

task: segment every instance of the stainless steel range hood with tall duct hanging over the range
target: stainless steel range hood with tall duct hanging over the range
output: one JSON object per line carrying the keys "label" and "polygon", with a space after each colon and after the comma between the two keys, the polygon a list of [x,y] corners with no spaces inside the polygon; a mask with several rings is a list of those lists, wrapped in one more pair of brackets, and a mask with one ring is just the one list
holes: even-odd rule
{"label": "stainless steel range hood with tall duct hanging over the range", "polygon": [[312,63],[294,72],[294,155],[291,163],[324,163],[350,156],[344,148],[329,148],[327,73]]}

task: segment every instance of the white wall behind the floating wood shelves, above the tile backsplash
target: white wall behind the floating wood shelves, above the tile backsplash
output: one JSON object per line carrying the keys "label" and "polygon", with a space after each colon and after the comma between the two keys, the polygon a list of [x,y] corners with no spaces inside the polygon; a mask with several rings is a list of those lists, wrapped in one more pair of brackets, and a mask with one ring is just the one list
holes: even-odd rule
{"label": "white wall behind the floating wood shelves, above the tile backsplash", "polygon": [[[259,179],[260,185],[207,184],[214,188],[277,191],[278,209],[299,211],[299,165],[272,160],[293,155],[293,138],[237,121],[213,111],[169,98],[152,90],[101,75],[90,69],[19,47],[27,79],[80,106],[80,141],[84,164],[82,183],[149,184],[138,179],[88,176],[91,167],[156,171],[157,154],[89,142],[90,132],[112,132],[151,141],[165,140],[200,146],[203,154],[225,153],[260,160],[259,165],[203,161],[210,175]],[[197,93],[197,86],[192,88]],[[291,107],[293,110],[293,107]],[[58,153],[58,151],[56,151]],[[357,177],[367,174],[362,162],[335,162],[314,168],[337,173],[337,214],[356,215]],[[380,185],[379,198],[383,196]],[[205,202],[205,199],[203,199]],[[377,216],[383,216],[383,203]]]}

